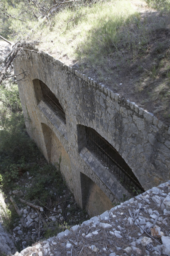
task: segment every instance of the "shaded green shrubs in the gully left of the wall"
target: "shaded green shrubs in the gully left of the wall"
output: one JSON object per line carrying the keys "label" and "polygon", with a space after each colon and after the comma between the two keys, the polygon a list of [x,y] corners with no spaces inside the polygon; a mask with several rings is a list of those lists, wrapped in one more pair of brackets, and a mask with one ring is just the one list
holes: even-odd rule
{"label": "shaded green shrubs in the gully left of the wall", "polygon": [[[28,177],[31,177],[31,182],[28,182]],[[46,214],[49,213],[46,207],[49,202],[49,208],[62,205],[65,222],[46,223],[43,227],[44,237],[56,235],[75,224],[74,215],[77,212],[79,212],[77,222],[87,218],[87,213],[81,211],[66,187],[59,164],[53,166],[47,163],[28,137],[17,86],[11,81],[0,86],[0,188],[6,195],[12,190],[22,191],[27,201],[42,206]],[[15,196],[15,201],[20,205],[18,196]],[[70,203],[70,208],[67,208],[67,201]],[[65,208],[69,209],[69,215]],[[8,230],[13,229],[13,224],[18,224],[18,215],[14,208],[9,206],[3,213],[5,227]],[[28,245],[30,244],[29,242]]]}

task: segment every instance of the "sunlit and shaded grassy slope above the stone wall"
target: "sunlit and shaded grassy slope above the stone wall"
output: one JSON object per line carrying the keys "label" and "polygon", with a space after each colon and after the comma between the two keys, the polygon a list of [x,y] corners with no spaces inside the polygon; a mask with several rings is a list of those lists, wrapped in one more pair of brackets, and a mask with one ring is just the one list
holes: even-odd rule
{"label": "sunlit and shaded grassy slope above the stone wall", "polygon": [[170,0],[64,1],[2,0],[15,17],[0,14],[2,35],[38,41],[39,49],[169,123]]}

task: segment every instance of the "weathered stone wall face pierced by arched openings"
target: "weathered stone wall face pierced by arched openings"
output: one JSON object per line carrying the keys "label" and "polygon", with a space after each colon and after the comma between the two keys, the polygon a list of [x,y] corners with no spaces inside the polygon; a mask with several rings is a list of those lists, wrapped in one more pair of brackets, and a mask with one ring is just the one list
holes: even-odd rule
{"label": "weathered stone wall face pierced by arched openings", "polygon": [[[170,179],[170,127],[134,102],[121,99],[102,84],[63,65],[46,53],[15,61],[15,73],[27,71],[18,81],[29,135],[48,159],[41,123],[56,134],[70,157],[72,185],[82,205],[80,171],[90,177],[115,202],[127,193],[86,148],[79,152],[77,125],[94,128],[122,155],[144,189]],[[18,79],[21,79],[21,75]],[[41,100],[38,105],[33,79],[43,81],[58,98],[66,114],[64,124]],[[68,157],[67,157],[68,158]],[[69,183],[69,181],[68,181]]]}

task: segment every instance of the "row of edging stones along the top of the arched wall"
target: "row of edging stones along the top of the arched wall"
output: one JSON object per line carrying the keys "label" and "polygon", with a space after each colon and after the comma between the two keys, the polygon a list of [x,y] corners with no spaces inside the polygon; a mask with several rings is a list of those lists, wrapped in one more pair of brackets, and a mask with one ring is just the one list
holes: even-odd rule
{"label": "row of edging stones along the top of the arched wall", "polygon": [[47,57],[49,59],[50,64],[56,63],[57,65],[61,66],[62,69],[64,69],[67,72],[71,72],[75,76],[81,78],[82,80],[88,82],[90,86],[93,86],[95,88],[98,88],[100,91],[102,91],[106,96],[109,96],[112,98],[114,101],[118,101],[118,103],[124,107],[130,108],[134,112],[136,112],[137,115],[140,117],[143,117],[146,119],[149,123],[152,125],[155,125],[159,129],[167,129],[168,134],[170,134],[170,125],[165,124],[163,121],[161,121],[158,117],[156,117],[153,113],[147,111],[146,109],[138,106],[135,102],[130,101],[129,99],[123,98],[120,96],[119,93],[113,92],[110,88],[108,88],[105,84],[103,83],[98,83],[96,80],[94,80],[91,77],[88,77],[86,74],[83,74],[76,70],[75,68],[66,65],[63,63],[61,60],[56,59],[52,55],[50,55],[47,52],[44,51],[37,51],[38,54],[43,55],[44,57]]}

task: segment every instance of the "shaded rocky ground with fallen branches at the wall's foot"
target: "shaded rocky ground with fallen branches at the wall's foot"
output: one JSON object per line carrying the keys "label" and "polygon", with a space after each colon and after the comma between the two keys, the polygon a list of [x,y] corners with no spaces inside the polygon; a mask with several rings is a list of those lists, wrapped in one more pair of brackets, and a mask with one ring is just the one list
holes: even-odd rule
{"label": "shaded rocky ground with fallen branches at the wall's foot", "polygon": [[[44,157],[38,157],[36,162],[29,163],[28,166],[31,168],[31,165],[36,164],[41,168],[47,163]],[[8,207],[12,212],[11,220],[6,225],[11,231],[13,242],[18,251],[89,218],[89,215],[77,205],[74,196],[64,183],[58,184],[60,191],[54,184],[45,187],[50,196],[43,205],[42,201],[39,201],[38,204],[36,199],[25,200],[30,188],[34,189],[35,177],[29,171],[20,173],[20,175],[15,183],[16,189],[10,190],[8,193],[5,191],[5,203],[9,205]],[[59,182],[63,181],[60,180]],[[8,244],[8,242],[6,243]],[[0,252],[3,251],[2,248]]]}

